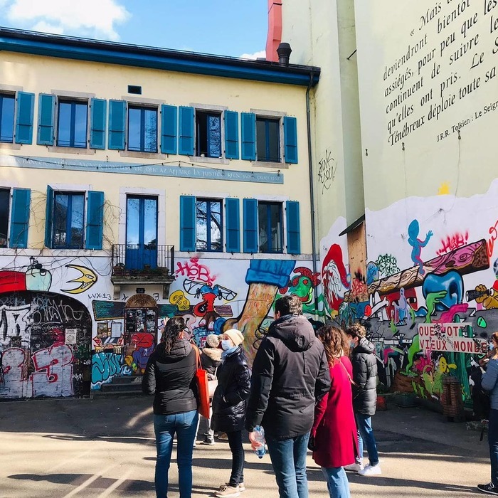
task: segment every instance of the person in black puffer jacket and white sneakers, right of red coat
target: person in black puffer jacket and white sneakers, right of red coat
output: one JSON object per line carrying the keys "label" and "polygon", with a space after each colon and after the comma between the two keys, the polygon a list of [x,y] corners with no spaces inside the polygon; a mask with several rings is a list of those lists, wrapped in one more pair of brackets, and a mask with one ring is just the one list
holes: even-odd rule
{"label": "person in black puffer jacket and white sneakers, right of red coat", "polygon": [[[377,359],[375,346],[366,339],[366,329],[361,324],[353,324],[346,329],[351,346],[353,364],[353,410],[358,428],[359,461],[348,465],[346,470],[357,470],[360,475],[381,475],[378,464],[378,451],[372,430],[372,415],[377,406]],[[369,465],[363,467],[363,445],[369,454]]]}

